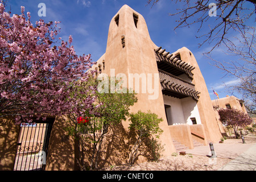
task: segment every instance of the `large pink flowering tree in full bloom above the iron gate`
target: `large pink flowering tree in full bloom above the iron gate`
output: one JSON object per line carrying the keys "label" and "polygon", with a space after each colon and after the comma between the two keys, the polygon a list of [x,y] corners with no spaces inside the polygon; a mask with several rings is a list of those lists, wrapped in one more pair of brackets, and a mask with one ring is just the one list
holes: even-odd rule
{"label": "large pink flowering tree in full bloom above the iron gate", "polygon": [[[95,98],[89,93],[96,88],[74,90],[88,80],[90,55],[76,55],[72,36],[68,43],[57,39],[60,22],[40,19],[33,25],[30,18],[24,7],[11,16],[0,3],[0,119],[31,122],[35,115],[80,115],[92,109]],[[77,101],[79,94],[87,97]]]}

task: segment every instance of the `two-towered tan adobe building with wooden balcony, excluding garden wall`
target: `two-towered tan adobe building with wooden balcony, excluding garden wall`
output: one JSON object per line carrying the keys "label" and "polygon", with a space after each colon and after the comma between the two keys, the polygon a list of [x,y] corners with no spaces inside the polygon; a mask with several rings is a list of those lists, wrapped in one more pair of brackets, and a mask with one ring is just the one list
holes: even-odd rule
{"label": "two-towered tan adobe building with wooden balcony, excluding garden wall", "polygon": [[[138,102],[131,112],[151,110],[163,118],[160,140],[165,145],[164,155],[181,150],[175,148],[173,140],[188,148],[193,148],[193,140],[203,144],[220,140],[212,101],[193,53],[185,47],[170,53],[156,46],[143,16],[129,6],[124,5],[112,18],[106,52],[92,69],[109,76],[125,75],[127,82],[133,83],[127,86],[133,88],[136,79],[141,78]],[[150,74],[154,92],[143,92],[149,83],[142,80]],[[156,92],[157,98],[153,97]],[[123,125],[127,129],[128,123]]]}

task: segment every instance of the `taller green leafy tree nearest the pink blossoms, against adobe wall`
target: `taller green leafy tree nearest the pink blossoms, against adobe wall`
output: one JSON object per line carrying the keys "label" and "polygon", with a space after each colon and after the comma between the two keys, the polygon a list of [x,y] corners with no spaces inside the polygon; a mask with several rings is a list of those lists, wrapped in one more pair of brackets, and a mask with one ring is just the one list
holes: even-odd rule
{"label": "taller green leafy tree nearest the pink blossoms, against adobe wall", "polygon": [[[91,93],[96,97],[93,110],[81,110],[80,115],[70,115],[71,120],[76,124],[75,127],[69,128],[69,132],[79,139],[81,148],[84,148],[86,145],[84,141],[92,144],[92,155],[90,156],[89,164],[90,170],[98,168],[101,146],[105,135],[109,133],[109,126],[117,125],[125,121],[129,115],[129,107],[137,102],[137,97],[134,92],[110,93],[110,82],[113,80],[110,78],[109,80],[105,80],[106,85],[108,85],[108,92],[101,93],[96,91],[95,93]],[[100,83],[100,81],[95,80],[93,77],[88,82],[87,87],[94,87]],[[114,82],[115,88],[118,88],[118,84],[120,83]],[[86,86],[81,85],[80,88],[76,89],[84,88],[86,88]],[[122,88],[122,90],[125,89],[126,88]],[[87,97],[87,94],[81,94],[79,97]],[[83,117],[80,123],[77,123],[77,117]],[[84,169],[84,156],[81,155],[80,158],[80,167]]]}

